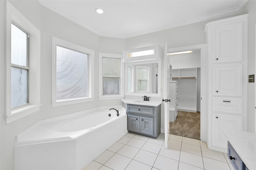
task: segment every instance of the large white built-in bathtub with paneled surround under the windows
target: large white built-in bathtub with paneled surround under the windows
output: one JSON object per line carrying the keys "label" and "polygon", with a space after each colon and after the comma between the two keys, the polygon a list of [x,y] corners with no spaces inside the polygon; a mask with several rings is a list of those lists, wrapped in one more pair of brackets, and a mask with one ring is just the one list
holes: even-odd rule
{"label": "large white built-in bathtub with paneled surround under the windows", "polygon": [[127,132],[122,106],[46,119],[16,136],[14,169],[80,170]]}

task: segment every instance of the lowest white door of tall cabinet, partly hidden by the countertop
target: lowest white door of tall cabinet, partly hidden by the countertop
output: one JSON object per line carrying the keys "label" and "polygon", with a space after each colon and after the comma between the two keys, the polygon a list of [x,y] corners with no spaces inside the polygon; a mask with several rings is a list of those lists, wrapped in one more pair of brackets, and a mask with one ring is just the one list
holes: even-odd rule
{"label": "lowest white door of tall cabinet, partly hidden by the countertop", "polygon": [[228,138],[222,128],[242,130],[242,116],[212,113],[212,146],[227,149]]}

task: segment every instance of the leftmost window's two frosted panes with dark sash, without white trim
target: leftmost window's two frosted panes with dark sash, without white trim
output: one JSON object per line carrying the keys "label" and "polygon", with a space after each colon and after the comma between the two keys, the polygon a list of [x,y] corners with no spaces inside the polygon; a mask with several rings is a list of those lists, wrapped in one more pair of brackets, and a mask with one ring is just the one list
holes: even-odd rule
{"label": "leftmost window's two frosted panes with dark sash, without white trim", "polygon": [[28,34],[11,26],[11,108],[27,105],[29,75]]}

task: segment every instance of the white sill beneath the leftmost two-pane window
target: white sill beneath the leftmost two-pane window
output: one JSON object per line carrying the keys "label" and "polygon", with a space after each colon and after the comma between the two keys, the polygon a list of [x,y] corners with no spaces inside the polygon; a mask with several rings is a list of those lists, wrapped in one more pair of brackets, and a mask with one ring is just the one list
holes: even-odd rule
{"label": "white sill beneath the leftmost two-pane window", "polygon": [[26,107],[12,110],[10,115],[6,115],[6,124],[39,111],[40,105],[42,104],[28,105]]}

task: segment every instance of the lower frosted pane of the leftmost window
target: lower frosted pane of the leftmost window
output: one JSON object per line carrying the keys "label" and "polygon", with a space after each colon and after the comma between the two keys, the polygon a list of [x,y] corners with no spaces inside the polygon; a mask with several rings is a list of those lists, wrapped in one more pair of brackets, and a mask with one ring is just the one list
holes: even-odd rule
{"label": "lower frosted pane of the leftmost window", "polygon": [[28,70],[12,67],[11,108],[28,103]]}

